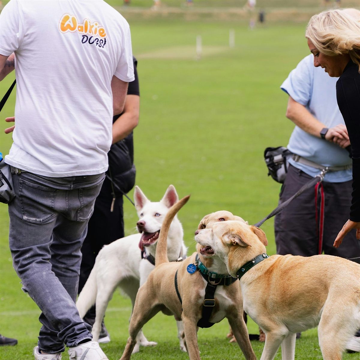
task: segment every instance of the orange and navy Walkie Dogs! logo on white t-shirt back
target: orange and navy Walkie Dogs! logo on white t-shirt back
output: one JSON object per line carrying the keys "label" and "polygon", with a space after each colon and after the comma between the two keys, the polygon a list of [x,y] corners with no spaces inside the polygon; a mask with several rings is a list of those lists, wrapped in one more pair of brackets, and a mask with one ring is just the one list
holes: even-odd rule
{"label": "orange and navy Walkie Dogs! logo on white t-shirt back", "polygon": [[62,33],[78,32],[82,34],[81,42],[85,44],[95,44],[99,48],[103,48],[106,44],[107,33],[105,28],[99,26],[97,21],[91,22],[84,19],[83,23],[79,23],[75,15],[64,14],[59,21],[59,30]]}

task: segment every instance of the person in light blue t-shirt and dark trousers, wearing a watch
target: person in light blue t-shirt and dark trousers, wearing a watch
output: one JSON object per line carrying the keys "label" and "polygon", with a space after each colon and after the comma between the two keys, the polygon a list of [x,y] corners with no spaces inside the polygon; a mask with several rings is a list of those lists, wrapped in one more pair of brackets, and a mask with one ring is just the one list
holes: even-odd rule
{"label": "person in light blue t-shirt and dark trousers, wearing a watch", "polygon": [[312,177],[328,167],[324,181],[294,199],[275,217],[276,250],[280,255],[312,256],[321,253],[354,258],[360,256],[355,233],[346,247],[333,247],[338,229],[348,219],[352,192],[350,141],[336,101],[337,78],[329,77],[317,58],[301,60],[281,85],[289,95],[286,116],[296,125],[288,149],[287,177],[279,204]]}

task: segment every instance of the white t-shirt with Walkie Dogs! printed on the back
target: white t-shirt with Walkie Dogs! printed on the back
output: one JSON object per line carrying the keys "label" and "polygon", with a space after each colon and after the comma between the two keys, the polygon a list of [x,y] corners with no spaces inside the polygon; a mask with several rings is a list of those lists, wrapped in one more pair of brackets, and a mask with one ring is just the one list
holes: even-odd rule
{"label": "white t-shirt with Walkie Dogs! printed on the back", "polygon": [[5,162],[51,177],[106,171],[111,79],[134,80],[126,20],[102,0],[11,0],[0,14],[0,54],[13,52],[15,130]]}

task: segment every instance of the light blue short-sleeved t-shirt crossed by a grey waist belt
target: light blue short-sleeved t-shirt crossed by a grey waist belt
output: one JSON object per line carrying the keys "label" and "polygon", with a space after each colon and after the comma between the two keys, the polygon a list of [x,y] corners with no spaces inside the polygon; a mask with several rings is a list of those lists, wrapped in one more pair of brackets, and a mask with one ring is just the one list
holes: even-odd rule
{"label": "light blue short-sleeved t-shirt crossed by a grey waist belt", "polygon": [[[336,100],[337,77],[330,77],[321,67],[314,66],[314,55],[310,54],[289,73],[280,88],[296,102],[304,105],[325,127],[345,124]],[[342,166],[352,163],[347,150],[336,144],[310,135],[295,126],[288,149],[312,162],[324,166]],[[320,170],[300,164],[293,159],[289,163],[310,176]],[[324,181],[341,183],[352,179],[352,170],[332,171],[325,175]]]}

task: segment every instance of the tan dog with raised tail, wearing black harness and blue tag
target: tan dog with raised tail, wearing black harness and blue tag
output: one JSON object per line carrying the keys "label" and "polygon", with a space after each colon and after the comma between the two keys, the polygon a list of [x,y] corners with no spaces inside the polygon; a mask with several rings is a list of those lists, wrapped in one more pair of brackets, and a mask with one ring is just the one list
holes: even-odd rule
{"label": "tan dog with raised tail, wearing black harness and blue tag", "polygon": [[[139,330],[159,311],[166,315],[174,315],[176,320],[183,320],[184,343],[190,360],[200,360],[197,343],[197,323],[202,317],[207,282],[199,271],[195,271],[193,274],[186,271],[188,265],[195,263],[196,252],[183,262],[168,262],[166,254],[168,228],[176,212],[188,199],[189,197],[185,197],[172,206],[164,219],[157,244],[156,266],[150,273],[148,280],[140,287],[136,296],[134,311],[130,320],[130,337],[127,340],[121,360],[130,359]],[[208,217],[208,220],[204,222],[205,226],[210,221],[217,221],[217,213],[215,214],[215,216],[210,215]],[[217,256],[211,255],[208,248],[197,246],[197,249],[199,258],[207,269],[217,274],[224,274],[224,271],[227,274],[225,264]],[[175,274],[177,274],[177,289],[182,303],[176,293]],[[256,357],[249,341],[242,314],[242,296],[238,282],[236,281],[229,286],[217,286],[215,306],[209,321],[218,323],[225,317],[228,318],[246,359],[254,360]]]}

